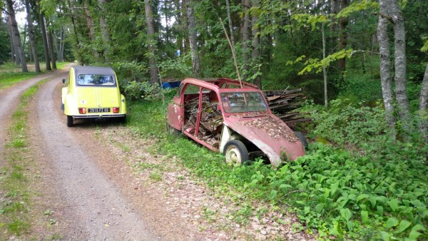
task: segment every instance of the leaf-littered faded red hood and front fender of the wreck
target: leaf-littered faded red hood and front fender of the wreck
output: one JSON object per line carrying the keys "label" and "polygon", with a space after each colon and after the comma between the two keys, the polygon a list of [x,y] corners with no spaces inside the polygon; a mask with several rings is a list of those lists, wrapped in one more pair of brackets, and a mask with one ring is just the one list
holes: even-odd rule
{"label": "leaf-littered faded red hood and front fender of the wreck", "polygon": [[285,156],[288,160],[295,160],[305,155],[299,138],[282,120],[272,114],[255,117],[228,116],[223,123],[260,148],[274,167],[280,165]]}

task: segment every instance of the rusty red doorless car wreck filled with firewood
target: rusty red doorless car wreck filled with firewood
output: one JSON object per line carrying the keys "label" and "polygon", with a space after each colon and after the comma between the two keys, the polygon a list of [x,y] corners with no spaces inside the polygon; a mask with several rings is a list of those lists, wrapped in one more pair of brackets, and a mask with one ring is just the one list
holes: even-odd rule
{"label": "rusty red doorless car wreck filled with firewood", "polygon": [[303,140],[272,114],[251,83],[186,78],[168,106],[168,125],[170,133],[223,153],[233,165],[264,156],[276,168],[305,155]]}

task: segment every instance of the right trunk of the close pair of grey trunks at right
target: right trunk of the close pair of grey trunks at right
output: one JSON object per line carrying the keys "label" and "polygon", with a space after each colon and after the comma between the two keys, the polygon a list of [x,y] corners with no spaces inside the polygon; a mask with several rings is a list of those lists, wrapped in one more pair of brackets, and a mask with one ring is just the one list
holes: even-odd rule
{"label": "right trunk of the close pair of grey trunks at right", "polygon": [[414,132],[412,113],[410,113],[409,100],[406,91],[406,36],[404,31],[404,18],[399,9],[397,0],[387,5],[389,16],[394,26],[394,69],[395,69],[395,98],[397,100],[399,118],[404,128],[404,138]]}

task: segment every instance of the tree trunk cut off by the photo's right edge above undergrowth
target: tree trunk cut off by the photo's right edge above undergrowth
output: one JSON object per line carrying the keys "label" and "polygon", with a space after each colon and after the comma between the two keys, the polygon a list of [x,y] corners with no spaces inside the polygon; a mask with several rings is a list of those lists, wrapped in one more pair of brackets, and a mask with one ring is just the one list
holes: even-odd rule
{"label": "tree trunk cut off by the photo's right edge above undergrowth", "polygon": [[428,63],[422,81],[421,96],[419,98],[419,132],[428,142]]}

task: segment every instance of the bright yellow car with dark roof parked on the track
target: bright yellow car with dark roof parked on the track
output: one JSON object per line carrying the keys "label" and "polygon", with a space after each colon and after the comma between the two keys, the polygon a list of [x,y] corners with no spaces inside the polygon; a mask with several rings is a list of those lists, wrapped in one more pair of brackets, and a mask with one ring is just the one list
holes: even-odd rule
{"label": "bright yellow car with dark roof parked on the track", "polygon": [[107,67],[73,66],[63,79],[61,109],[67,126],[81,118],[116,118],[126,121],[126,101],[119,90],[116,73]]}

